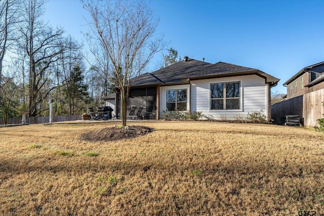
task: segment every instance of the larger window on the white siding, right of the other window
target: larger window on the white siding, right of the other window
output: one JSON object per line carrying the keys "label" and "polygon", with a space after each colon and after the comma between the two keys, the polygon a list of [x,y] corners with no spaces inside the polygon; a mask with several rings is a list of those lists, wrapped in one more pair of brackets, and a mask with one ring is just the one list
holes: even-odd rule
{"label": "larger window on the white siding, right of the other window", "polygon": [[211,84],[211,109],[239,109],[239,82]]}

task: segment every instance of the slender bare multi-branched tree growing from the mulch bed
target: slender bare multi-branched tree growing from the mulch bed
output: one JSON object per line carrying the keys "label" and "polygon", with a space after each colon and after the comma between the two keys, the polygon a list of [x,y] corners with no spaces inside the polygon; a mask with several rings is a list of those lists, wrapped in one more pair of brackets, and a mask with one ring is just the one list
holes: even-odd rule
{"label": "slender bare multi-branched tree growing from the mulch bed", "polygon": [[91,15],[88,41],[103,49],[101,57],[111,64],[108,77],[120,92],[121,119],[126,126],[129,90],[153,55],[164,47],[162,38],[154,35],[158,19],[145,1],[82,2]]}

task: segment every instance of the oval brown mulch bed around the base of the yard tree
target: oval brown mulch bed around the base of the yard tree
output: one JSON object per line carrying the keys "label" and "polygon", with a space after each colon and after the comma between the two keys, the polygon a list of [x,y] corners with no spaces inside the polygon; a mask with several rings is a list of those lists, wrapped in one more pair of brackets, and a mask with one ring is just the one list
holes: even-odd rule
{"label": "oval brown mulch bed around the base of the yard tree", "polygon": [[121,139],[132,139],[139,136],[144,136],[153,131],[153,128],[145,126],[129,126],[129,129],[106,127],[100,131],[94,131],[83,134],[81,138],[85,141],[116,141]]}

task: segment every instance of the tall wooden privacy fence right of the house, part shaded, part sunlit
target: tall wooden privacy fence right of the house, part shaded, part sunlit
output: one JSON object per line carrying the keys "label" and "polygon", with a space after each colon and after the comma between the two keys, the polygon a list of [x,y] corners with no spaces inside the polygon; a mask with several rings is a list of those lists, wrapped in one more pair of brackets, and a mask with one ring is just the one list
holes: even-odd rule
{"label": "tall wooden privacy fence right of the house, part shaded, part sunlit", "polygon": [[284,124],[286,115],[299,115],[304,126],[313,127],[323,117],[322,101],[324,89],[271,105],[271,116],[274,123]]}

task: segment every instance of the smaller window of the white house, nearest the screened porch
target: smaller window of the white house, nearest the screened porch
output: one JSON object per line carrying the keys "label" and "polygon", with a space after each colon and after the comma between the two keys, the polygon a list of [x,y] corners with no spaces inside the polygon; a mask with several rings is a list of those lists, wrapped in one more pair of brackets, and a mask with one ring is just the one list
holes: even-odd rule
{"label": "smaller window of the white house, nearest the screened porch", "polygon": [[187,110],[187,90],[167,90],[167,110]]}

